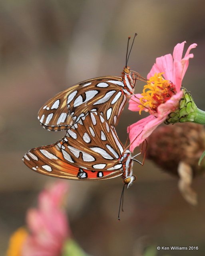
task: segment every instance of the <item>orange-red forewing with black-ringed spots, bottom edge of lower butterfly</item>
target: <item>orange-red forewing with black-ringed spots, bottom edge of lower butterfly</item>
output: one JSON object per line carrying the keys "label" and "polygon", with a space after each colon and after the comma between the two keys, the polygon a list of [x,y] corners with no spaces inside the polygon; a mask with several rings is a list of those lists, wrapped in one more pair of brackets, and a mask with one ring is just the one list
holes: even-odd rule
{"label": "orange-red forewing with black-ringed spots, bottom edge of lower butterfly", "polygon": [[33,148],[24,157],[24,163],[35,172],[56,178],[71,180],[106,180],[122,174],[119,170],[103,172],[102,170],[90,171],[73,166],[66,161],[61,147],[64,139],[39,148]]}

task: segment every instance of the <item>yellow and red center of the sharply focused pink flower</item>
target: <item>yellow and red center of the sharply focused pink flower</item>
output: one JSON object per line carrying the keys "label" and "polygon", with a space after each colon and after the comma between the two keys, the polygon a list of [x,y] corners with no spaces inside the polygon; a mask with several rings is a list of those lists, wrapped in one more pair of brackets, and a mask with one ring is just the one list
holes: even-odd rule
{"label": "yellow and red center of the sharply focused pink flower", "polygon": [[152,114],[157,113],[158,106],[177,93],[175,85],[169,80],[165,80],[162,74],[155,73],[144,86],[143,93],[141,94],[143,97],[139,99],[141,103],[139,105],[139,114],[141,114],[144,108],[149,109],[149,112]]}

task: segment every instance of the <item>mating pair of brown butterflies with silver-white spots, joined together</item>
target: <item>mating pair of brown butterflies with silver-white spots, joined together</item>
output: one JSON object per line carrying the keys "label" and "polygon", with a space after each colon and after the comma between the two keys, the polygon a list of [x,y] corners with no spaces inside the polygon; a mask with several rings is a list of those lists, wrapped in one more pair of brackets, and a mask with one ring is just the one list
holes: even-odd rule
{"label": "mating pair of brown butterflies with silver-white spots, joined together", "polygon": [[132,184],[135,159],[123,148],[114,128],[135,86],[136,73],[131,75],[127,68],[128,58],[122,77],[86,80],[46,102],[38,114],[42,126],[52,131],[68,130],[55,144],[26,153],[23,161],[29,168],[74,180],[122,176],[127,187]]}

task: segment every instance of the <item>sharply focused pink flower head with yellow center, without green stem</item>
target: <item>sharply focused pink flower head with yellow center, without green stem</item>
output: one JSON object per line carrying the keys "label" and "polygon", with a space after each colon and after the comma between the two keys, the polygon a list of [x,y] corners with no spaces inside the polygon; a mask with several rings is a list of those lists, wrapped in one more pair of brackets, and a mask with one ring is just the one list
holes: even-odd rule
{"label": "sharply focused pink flower head with yellow center, without green stem", "polygon": [[185,41],[175,46],[173,57],[167,54],[156,58],[156,63],[147,75],[149,80],[143,93],[135,94],[129,100],[129,110],[139,111],[139,113],[144,110],[150,114],[128,127],[130,142],[134,141],[130,146],[131,151],[179,106],[179,101],[183,97],[181,82],[189,66],[189,58],[193,58],[193,54],[189,52],[197,46],[197,44],[191,44],[182,58],[184,44]]}

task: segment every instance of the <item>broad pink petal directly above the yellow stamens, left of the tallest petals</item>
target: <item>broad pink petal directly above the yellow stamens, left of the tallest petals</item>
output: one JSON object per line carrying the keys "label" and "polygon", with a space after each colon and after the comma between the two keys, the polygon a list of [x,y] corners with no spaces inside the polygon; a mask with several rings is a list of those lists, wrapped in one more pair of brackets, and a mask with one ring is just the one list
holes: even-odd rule
{"label": "broad pink petal directly above the yellow stamens, left of the tallest petals", "polygon": [[155,73],[164,73],[163,76],[165,79],[172,81],[173,80],[173,58],[171,54],[166,54],[165,56],[161,56],[156,58],[156,63],[151,68],[149,74],[147,75],[147,79],[151,76],[154,76]]}

